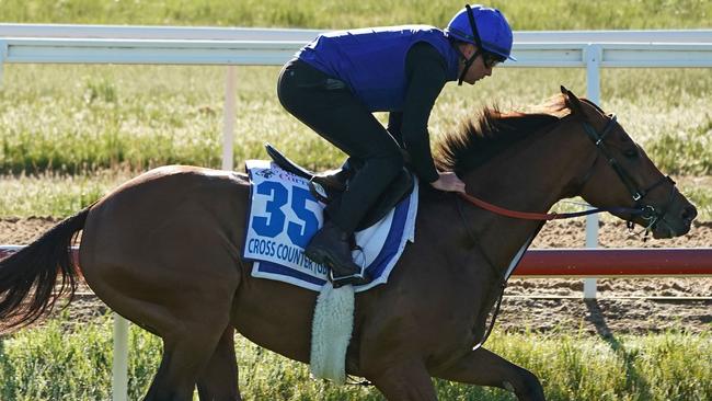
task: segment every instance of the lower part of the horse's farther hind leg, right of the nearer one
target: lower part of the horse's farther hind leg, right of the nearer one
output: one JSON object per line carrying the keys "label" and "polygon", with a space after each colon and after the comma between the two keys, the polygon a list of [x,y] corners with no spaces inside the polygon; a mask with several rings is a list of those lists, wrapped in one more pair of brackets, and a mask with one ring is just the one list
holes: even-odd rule
{"label": "lower part of the horse's farther hind leg, right of the nearer one", "polygon": [[228,326],[208,366],[198,378],[200,400],[239,401],[238,362],[234,356],[234,329]]}

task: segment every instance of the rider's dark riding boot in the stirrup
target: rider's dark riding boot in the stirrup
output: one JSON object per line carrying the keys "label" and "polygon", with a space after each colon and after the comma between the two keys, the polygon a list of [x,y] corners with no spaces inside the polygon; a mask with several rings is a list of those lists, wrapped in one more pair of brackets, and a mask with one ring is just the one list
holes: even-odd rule
{"label": "rider's dark riding boot in the stirrup", "polygon": [[352,259],[351,237],[332,221],[326,221],[305,249],[307,257],[329,266],[334,288],[370,282]]}

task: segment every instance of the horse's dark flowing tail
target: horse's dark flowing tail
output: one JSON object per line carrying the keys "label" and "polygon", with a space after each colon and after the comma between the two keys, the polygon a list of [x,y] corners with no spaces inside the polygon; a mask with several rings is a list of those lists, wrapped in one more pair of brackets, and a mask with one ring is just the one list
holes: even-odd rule
{"label": "horse's dark flowing tail", "polygon": [[[65,219],[35,242],[0,261],[0,332],[34,322],[65,295],[69,295],[69,305],[79,284],[70,247],[84,227],[90,208]],[[61,275],[59,283],[58,275]]]}

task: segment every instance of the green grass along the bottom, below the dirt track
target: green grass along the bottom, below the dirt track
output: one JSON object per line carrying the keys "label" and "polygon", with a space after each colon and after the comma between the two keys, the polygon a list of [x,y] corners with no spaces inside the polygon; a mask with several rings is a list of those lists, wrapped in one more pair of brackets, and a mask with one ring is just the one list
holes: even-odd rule
{"label": "green grass along the bottom, below the dirt track", "polygon": [[[106,400],[111,394],[110,317],[92,324],[50,320],[0,339],[0,399]],[[248,400],[382,400],[375,389],[309,379],[306,365],[237,337],[240,386]],[[495,332],[487,347],[537,374],[549,400],[708,400],[712,336],[667,332],[600,339],[584,334]],[[129,398],[157,368],[157,337],[131,325]],[[699,357],[691,358],[690,355]],[[443,400],[514,400],[498,389],[436,381]]]}

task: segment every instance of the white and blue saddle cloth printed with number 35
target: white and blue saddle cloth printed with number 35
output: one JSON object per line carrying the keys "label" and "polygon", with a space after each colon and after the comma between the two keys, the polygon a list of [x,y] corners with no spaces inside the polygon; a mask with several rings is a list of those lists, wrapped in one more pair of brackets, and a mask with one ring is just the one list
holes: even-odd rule
{"label": "white and blue saddle cloth printed with number 35", "polygon": [[[309,192],[309,182],[265,160],[245,162],[251,182],[250,215],[242,256],[253,262],[252,276],[294,284],[314,291],[326,283],[329,268],[305,255],[311,237],[323,225],[324,205]],[[364,291],[388,280],[407,241],[415,238],[417,180],[413,193],[376,225],[355,233],[360,249],[356,264],[372,282]]]}

